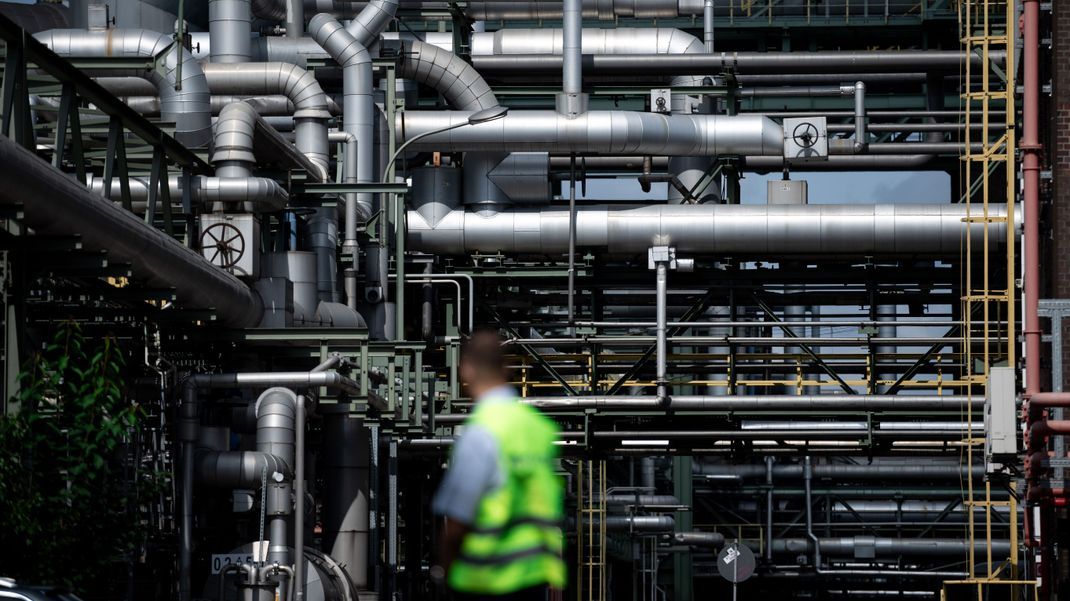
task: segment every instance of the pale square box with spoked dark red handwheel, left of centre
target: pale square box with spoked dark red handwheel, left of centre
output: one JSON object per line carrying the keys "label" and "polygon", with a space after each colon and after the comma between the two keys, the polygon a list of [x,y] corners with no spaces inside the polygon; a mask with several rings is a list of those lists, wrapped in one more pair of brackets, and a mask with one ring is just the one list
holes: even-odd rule
{"label": "pale square box with spoked dark red handwheel, left of centre", "polygon": [[201,255],[239,277],[260,277],[260,220],[250,213],[200,216]]}

